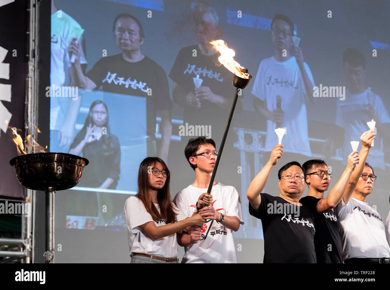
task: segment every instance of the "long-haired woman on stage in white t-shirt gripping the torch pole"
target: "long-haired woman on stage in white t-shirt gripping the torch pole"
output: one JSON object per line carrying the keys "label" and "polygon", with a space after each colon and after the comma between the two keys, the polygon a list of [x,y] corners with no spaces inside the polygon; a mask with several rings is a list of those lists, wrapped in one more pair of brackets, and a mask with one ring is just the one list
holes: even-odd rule
{"label": "long-haired woman on stage in white t-shirt gripping the torch pole", "polygon": [[[141,162],[138,194],[124,206],[131,263],[177,263],[176,233],[204,225],[200,214],[187,217],[171,202],[169,181],[163,160],[147,157]],[[198,206],[211,205],[211,195],[205,195],[199,196]]]}

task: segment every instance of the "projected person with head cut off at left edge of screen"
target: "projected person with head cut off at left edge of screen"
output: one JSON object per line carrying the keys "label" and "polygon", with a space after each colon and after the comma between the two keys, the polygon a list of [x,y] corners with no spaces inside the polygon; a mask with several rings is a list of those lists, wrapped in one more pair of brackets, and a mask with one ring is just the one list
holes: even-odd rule
{"label": "projected person with head cut off at left edge of screen", "polygon": [[[54,88],[69,88],[74,86],[74,76],[71,69],[71,56],[67,53],[67,47],[76,32],[82,31],[80,24],[64,11],[59,10],[51,0],[51,47],[50,47],[50,85]],[[77,38],[76,38],[77,39]],[[77,39],[80,44],[80,56],[78,62],[80,69],[85,72],[87,60],[82,49],[83,36]],[[80,109],[81,97],[73,96],[66,89],[66,96],[56,96],[51,91],[50,98],[50,151],[67,152],[74,135],[75,125]],[[71,92],[72,89],[70,90]]]}

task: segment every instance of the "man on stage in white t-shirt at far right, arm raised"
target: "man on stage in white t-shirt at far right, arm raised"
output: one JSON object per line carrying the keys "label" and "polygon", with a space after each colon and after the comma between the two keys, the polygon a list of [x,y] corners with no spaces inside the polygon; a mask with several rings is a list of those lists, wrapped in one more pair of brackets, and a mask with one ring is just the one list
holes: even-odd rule
{"label": "man on stage in white t-shirt at far right, arm raised", "polygon": [[336,207],[342,226],[345,263],[390,263],[385,225],[375,206],[366,202],[376,179],[371,165],[365,162],[374,138],[373,130],[362,135],[358,168],[351,175],[344,196]]}

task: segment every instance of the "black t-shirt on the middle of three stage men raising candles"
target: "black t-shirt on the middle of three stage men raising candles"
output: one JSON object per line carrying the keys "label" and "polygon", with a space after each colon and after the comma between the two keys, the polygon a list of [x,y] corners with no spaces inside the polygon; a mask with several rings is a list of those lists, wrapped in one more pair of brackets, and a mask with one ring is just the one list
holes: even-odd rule
{"label": "black t-shirt on the middle of three stage men raising candles", "polygon": [[[302,197],[299,202],[316,212],[317,203],[321,199],[314,196]],[[342,263],[340,222],[333,210],[314,215],[314,246],[317,263]]]}

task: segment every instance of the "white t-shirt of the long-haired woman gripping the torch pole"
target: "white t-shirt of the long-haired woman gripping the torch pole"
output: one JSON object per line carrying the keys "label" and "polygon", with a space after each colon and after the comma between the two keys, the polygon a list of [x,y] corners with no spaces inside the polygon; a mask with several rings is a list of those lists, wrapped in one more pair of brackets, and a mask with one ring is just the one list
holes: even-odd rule
{"label": "white t-shirt of the long-haired woman gripping the torch pole", "polygon": [[[187,218],[186,215],[177,209],[173,202],[171,202],[171,204],[177,213],[176,221]],[[154,204],[154,206],[157,208],[158,212],[160,212],[160,206],[158,204]],[[133,253],[142,253],[164,258],[177,256],[176,233],[153,240],[139,227],[148,221],[153,221],[156,227],[166,225],[166,223],[165,220],[154,221],[151,214],[146,211],[144,204],[138,197],[132,196],[126,200],[124,205],[124,217],[126,219],[128,231],[130,255]]]}

